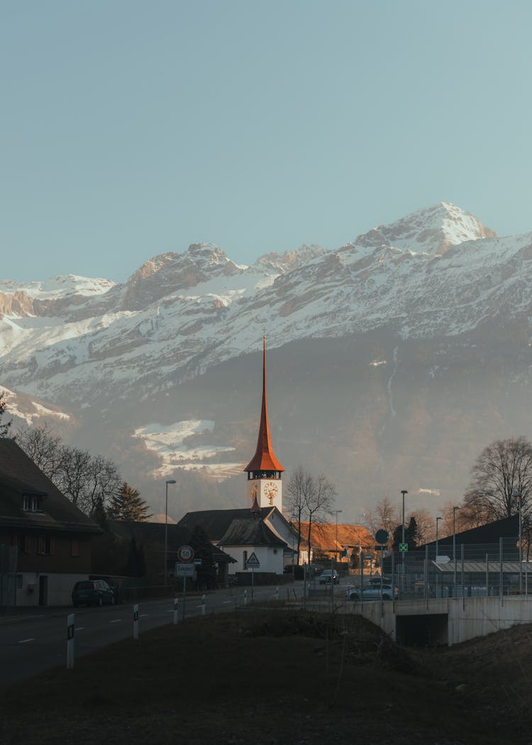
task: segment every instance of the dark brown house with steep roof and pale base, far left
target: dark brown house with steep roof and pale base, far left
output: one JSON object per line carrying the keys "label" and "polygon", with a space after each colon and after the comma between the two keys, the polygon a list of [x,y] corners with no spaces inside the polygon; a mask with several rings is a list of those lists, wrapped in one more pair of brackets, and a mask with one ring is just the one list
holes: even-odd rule
{"label": "dark brown house with steep roof and pale base, far left", "polygon": [[69,605],[97,533],[14,440],[0,438],[0,607]]}

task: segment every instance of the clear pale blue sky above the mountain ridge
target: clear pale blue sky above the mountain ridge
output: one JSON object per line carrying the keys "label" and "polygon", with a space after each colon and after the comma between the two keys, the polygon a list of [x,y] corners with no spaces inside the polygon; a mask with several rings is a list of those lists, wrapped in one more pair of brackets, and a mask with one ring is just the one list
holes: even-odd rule
{"label": "clear pale blue sky above the mountain ridge", "polygon": [[532,230],[528,0],[0,0],[0,279]]}

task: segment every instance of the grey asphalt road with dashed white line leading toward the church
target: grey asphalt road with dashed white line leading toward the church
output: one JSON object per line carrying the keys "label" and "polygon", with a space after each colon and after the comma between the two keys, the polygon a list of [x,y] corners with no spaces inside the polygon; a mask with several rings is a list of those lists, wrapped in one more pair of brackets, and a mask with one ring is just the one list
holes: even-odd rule
{"label": "grey asphalt road with dashed white line leading toward the church", "polygon": [[[335,587],[335,593],[338,586]],[[204,612],[228,612],[252,600],[251,588],[216,590],[205,596]],[[253,589],[256,601],[299,599],[303,583]],[[203,614],[202,597],[178,598],[178,623]],[[34,608],[19,616],[0,618],[0,689],[57,665],[66,666],[67,619],[74,614],[75,658],[133,636],[133,605],[101,608]],[[174,621],[174,599],[139,601],[139,635]]]}

